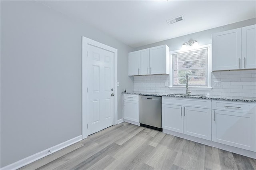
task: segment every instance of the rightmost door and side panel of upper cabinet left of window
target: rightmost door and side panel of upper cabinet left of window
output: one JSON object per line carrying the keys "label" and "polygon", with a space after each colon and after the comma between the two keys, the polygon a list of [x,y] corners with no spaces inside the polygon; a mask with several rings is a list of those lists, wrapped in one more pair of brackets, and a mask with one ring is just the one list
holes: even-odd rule
{"label": "rightmost door and side panel of upper cabinet left of window", "polygon": [[169,47],[160,45],[150,50],[150,74],[170,74]]}

